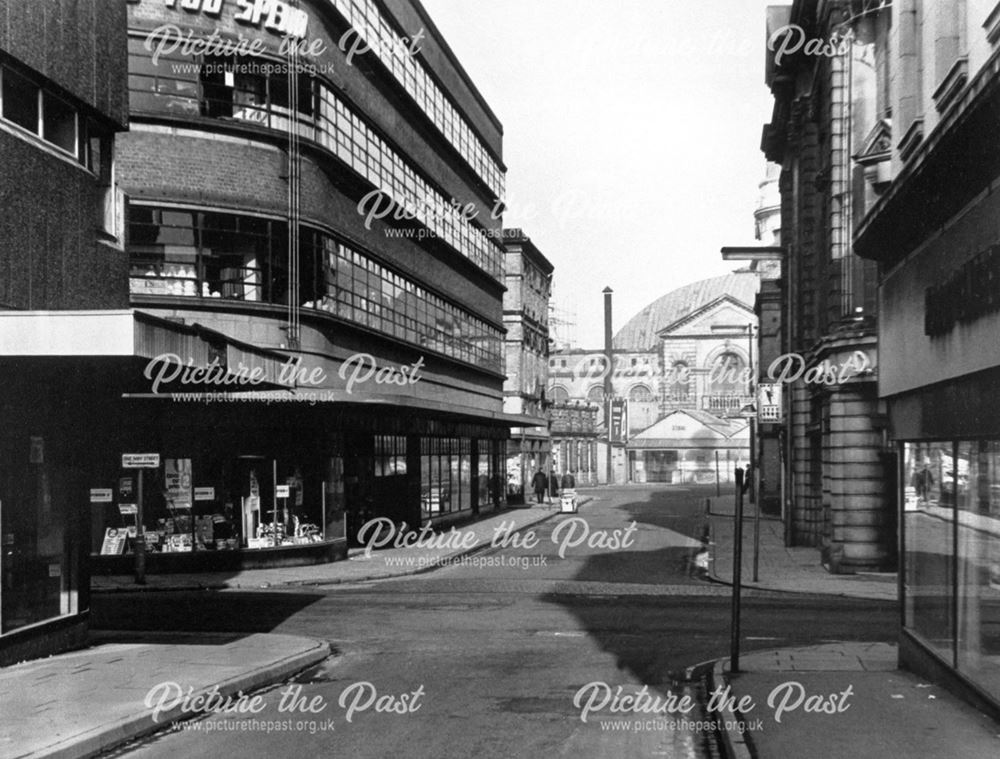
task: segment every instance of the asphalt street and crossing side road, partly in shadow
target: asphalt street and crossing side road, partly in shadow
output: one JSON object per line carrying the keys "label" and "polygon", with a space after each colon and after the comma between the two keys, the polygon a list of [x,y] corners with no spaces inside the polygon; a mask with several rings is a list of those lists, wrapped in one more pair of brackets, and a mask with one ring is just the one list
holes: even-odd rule
{"label": "asphalt street and crossing side road, partly in shadow", "polygon": [[[728,654],[730,590],[688,572],[714,488],[595,493],[576,517],[560,514],[536,527],[532,547],[513,547],[512,539],[419,576],[95,597],[96,627],[274,631],[325,639],[337,652],[267,691],[259,713],[209,716],[121,753],[717,755],[695,724],[700,707],[664,717],[630,710],[641,696],[621,701],[617,712],[616,699],[606,698],[637,696],[644,687],[650,698],[696,698],[699,684],[685,681],[685,670]],[[611,536],[625,538],[633,522],[633,538],[611,547]],[[745,599],[746,650],[895,635],[894,605],[752,590]],[[584,713],[587,704],[593,708]],[[690,724],[668,722],[683,718]]]}

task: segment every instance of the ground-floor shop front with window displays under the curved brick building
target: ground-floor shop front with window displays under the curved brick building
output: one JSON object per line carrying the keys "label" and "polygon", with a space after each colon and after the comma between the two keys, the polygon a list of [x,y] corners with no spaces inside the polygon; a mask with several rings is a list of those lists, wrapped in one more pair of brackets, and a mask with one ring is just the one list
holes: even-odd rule
{"label": "ground-floor shop front with window displays under the curved brick building", "polygon": [[140,535],[149,572],[288,566],[346,558],[375,519],[416,529],[503,503],[504,427],[339,404],[126,403],[146,432],[89,482],[96,573],[133,571]]}

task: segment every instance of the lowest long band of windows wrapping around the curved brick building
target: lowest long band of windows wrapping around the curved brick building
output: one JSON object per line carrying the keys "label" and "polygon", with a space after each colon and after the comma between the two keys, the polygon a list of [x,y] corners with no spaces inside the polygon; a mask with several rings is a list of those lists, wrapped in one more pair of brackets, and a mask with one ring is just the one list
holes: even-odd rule
{"label": "lowest long band of windows wrapping around the curved brick building", "polygon": [[[327,232],[300,234],[299,305],[500,371],[496,327]],[[136,296],[279,305],[292,297],[281,220],[134,205],[128,250]]]}

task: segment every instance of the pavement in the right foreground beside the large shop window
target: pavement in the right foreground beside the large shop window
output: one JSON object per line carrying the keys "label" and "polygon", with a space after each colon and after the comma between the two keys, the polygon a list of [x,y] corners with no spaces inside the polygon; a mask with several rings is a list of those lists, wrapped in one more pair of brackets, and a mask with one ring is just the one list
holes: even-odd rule
{"label": "pavement in the right foreground beside the large shop window", "polygon": [[[896,646],[834,643],[719,660],[710,688],[748,711],[717,717],[731,759],[1000,756],[1000,725],[937,685],[897,669]],[[732,706],[732,702],[729,704]],[[736,722],[742,722],[742,729]]]}

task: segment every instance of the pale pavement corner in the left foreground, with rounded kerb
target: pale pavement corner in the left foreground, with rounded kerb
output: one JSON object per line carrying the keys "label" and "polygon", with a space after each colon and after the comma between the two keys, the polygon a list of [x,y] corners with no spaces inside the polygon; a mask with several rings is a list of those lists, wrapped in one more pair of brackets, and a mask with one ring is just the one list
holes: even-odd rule
{"label": "pale pavement corner in the left foreground, with rounded kerb", "polygon": [[181,694],[237,699],[329,655],[325,642],[291,635],[96,635],[88,648],[0,668],[0,756],[94,756],[213,706]]}

